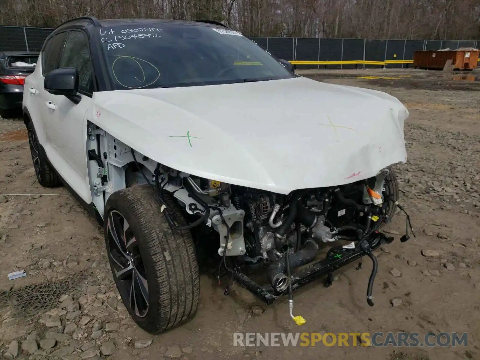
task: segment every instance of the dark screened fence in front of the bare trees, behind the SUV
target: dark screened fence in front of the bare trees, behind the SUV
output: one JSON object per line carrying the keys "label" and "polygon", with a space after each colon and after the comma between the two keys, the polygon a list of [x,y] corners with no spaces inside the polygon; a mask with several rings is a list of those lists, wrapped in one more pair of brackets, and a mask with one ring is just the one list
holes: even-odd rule
{"label": "dark screened fence in front of the bare trees, behind the SUV", "polygon": [[[40,51],[53,29],[0,26],[0,51]],[[349,38],[250,37],[277,58],[303,61],[413,60],[417,50],[479,48],[480,40],[375,40]],[[319,65],[297,65],[317,68]],[[321,65],[324,66],[324,65]],[[325,65],[328,68],[355,68],[354,64]],[[363,65],[378,67],[378,65]],[[388,67],[403,67],[389,64]]]}

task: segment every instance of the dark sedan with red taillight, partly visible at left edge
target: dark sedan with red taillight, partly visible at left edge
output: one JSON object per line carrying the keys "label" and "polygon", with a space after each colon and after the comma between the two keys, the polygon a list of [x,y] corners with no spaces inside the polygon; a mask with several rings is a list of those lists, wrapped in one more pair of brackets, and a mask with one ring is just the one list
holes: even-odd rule
{"label": "dark sedan with red taillight, partly visible at left edge", "polygon": [[22,109],[25,77],[36,66],[38,52],[0,51],[0,116],[11,117]]}

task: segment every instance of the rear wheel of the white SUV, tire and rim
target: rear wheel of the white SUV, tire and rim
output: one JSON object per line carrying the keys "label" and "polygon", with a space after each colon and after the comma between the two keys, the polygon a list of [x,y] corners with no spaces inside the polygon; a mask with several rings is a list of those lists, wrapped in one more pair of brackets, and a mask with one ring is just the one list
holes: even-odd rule
{"label": "rear wheel of the white SUV, tire and rim", "polygon": [[40,151],[40,143],[36,136],[35,128],[30,121],[27,125],[28,144],[30,145],[30,154],[35,168],[36,180],[45,188],[53,188],[61,185],[61,181],[55,170],[48,164],[47,159]]}

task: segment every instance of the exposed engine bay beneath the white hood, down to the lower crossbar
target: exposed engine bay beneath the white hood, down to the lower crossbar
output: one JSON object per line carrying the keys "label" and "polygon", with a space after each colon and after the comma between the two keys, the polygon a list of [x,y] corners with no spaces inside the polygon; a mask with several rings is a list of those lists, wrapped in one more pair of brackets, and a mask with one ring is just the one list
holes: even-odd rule
{"label": "exposed engine bay beneath the white hood, down to the lower crossbar", "polygon": [[[391,242],[393,238],[378,229],[391,221],[400,206],[391,168],[370,179],[288,195],[193,177],[161,166],[156,168],[155,184],[159,193],[173,193],[186,215],[198,217],[194,226],[204,223],[216,231],[220,265],[242,285],[248,288],[253,282],[242,268],[263,270],[269,285],[265,288],[253,282],[253,288],[261,290],[251,291],[257,296],[266,291],[260,297],[267,302],[269,297],[291,292],[295,283],[288,272],[314,264],[321,248],[329,247],[328,254],[338,260],[341,255],[335,251],[370,257],[374,246]],[[407,234],[404,240],[408,240]],[[371,290],[367,298],[371,301]]]}

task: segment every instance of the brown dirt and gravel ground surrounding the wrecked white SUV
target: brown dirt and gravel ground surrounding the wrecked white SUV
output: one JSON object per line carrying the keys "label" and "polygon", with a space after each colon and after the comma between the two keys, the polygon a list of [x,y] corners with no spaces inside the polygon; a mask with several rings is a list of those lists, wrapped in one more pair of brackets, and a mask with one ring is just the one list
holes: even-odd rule
{"label": "brown dirt and gravel ground surrounding the wrecked white SUV", "polygon": [[[152,337],[135,326],[119,302],[101,229],[71,196],[0,195],[0,287],[10,290],[0,295],[2,353],[14,351],[12,340],[18,340],[24,353],[33,353],[38,343],[54,346],[37,350],[33,359],[95,358],[102,356],[99,350],[119,360],[480,359],[480,82],[407,69],[302,73],[388,92],[410,111],[408,163],[397,171],[401,201],[417,237],[399,241],[405,232],[402,214],[386,227],[396,241],[377,253],[374,307],[365,301],[367,261],[361,270],[356,264],[341,269],[329,288],[317,281],[298,291],[295,313],[307,320],[301,327],[290,320],[286,299],[266,307],[238,286],[224,296],[215,279],[202,275],[196,317]],[[377,79],[356,78],[365,76]],[[0,120],[0,164],[1,193],[68,194],[36,182],[22,121]],[[426,250],[438,256],[423,256]],[[8,273],[21,269],[27,276],[8,280]],[[38,285],[27,287],[32,284]],[[394,307],[393,299],[401,304]],[[48,313],[38,310],[48,304],[55,306]],[[233,347],[236,331],[468,332],[468,346]],[[142,345],[138,340],[149,339],[151,345],[135,348]],[[22,348],[19,359],[29,357],[21,353]]]}

